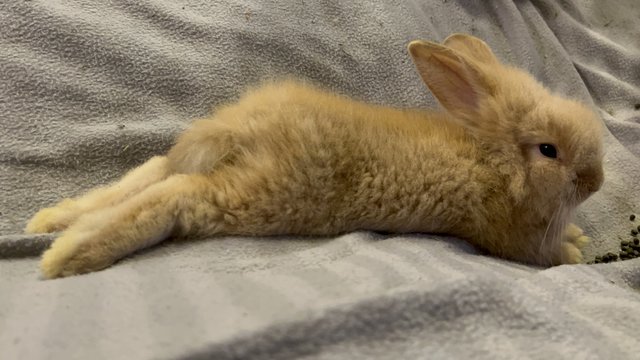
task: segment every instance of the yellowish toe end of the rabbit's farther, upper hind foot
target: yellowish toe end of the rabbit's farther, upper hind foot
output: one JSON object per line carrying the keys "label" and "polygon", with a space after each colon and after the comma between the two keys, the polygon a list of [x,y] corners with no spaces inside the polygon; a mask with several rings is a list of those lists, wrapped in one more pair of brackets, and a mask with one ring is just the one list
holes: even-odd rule
{"label": "yellowish toe end of the rabbit's farther, upper hind foot", "polygon": [[52,233],[66,229],[77,217],[75,201],[65,199],[54,207],[38,211],[27,223],[27,234]]}

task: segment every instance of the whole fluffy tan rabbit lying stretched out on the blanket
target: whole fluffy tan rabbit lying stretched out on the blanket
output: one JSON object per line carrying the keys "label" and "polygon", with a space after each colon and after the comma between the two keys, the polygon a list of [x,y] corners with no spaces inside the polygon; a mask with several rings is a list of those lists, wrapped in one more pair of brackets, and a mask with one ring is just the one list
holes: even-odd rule
{"label": "whole fluffy tan rabbit lying stretched out on the blanket", "polygon": [[467,239],[538,265],[578,263],[570,223],[603,182],[601,122],[501,64],[480,39],[414,41],[447,110],[364,104],[270,83],[196,121],[167,156],[37,213],[64,230],[46,278],[103,269],[169,237],[332,235],[359,229]]}

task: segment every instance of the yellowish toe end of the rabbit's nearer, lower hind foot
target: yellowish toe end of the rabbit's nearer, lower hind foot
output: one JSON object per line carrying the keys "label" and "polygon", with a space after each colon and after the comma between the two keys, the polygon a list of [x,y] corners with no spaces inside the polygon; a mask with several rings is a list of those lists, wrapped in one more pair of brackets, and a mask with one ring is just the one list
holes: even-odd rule
{"label": "yellowish toe end of the rabbit's nearer, lower hind foot", "polygon": [[95,234],[67,231],[42,255],[40,269],[47,279],[84,274],[113,264],[108,247],[93,241]]}

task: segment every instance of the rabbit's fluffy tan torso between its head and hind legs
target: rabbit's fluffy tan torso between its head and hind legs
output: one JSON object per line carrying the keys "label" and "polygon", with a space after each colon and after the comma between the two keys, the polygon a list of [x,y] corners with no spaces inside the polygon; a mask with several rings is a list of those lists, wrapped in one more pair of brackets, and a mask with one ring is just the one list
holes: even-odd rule
{"label": "rabbit's fluffy tan torso between its head and hind legs", "polygon": [[224,183],[237,205],[217,205],[242,224],[228,233],[447,232],[486,200],[477,178],[491,172],[442,117],[277,83],[196,122],[168,160]]}

